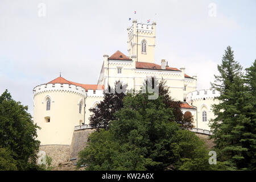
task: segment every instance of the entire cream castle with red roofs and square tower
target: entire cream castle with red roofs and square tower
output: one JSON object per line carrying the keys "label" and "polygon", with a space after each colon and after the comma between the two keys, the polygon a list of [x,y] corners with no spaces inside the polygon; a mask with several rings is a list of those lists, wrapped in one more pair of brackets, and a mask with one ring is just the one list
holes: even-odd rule
{"label": "entire cream castle with red roofs and square tower", "polygon": [[112,56],[104,55],[101,73],[96,85],[78,84],[58,77],[47,84],[34,88],[34,121],[41,127],[38,139],[42,145],[70,145],[75,127],[89,125],[89,109],[103,100],[106,85],[116,81],[127,84],[127,89],[141,90],[148,77],[166,80],[171,97],[181,104],[185,115],[193,116],[194,130],[210,130],[208,124],[212,104],[218,101],[218,93],[212,90],[197,90],[197,77],[185,74],[185,68],[174,68],[166,60],[155,64],[154,49],[156,23],[141,24],[133,20],[127,28],[128,56],[117,51]]}

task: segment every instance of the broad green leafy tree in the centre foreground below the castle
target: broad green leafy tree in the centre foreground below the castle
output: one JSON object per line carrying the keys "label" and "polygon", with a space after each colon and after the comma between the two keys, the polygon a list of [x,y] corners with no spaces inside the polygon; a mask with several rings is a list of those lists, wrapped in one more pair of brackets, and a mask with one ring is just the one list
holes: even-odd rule
{"label": "broad green leafy tree in the centre foreground below the castle", "polygon": [[89,136],[79,153],[78,166],[86,170],[210,170],[204,143],[175,123],[163,96],[127,94],[123,108],[114,114],[109,130]]}

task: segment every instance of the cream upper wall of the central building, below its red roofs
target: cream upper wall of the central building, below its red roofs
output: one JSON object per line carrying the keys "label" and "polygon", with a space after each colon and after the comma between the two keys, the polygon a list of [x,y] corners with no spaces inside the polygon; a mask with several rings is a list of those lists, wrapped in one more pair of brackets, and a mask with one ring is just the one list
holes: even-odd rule
{"label": "cream upper wall of the central building, below its red roofs", "polygon": [[[117,68],[122,68],[122,73],[117,73]],[[100,82],[104,82],[106,85],[109,83],[113,88],[115,82],[119,80],[123,84],[127,84],[129,90],[141,90],[144,80],[151,76],[158,80],[164,78],[170,89],[171,97],[179,101],[183,101],[188,92],[196,90],[196,79],[185,77],[184,71],[136,69],[135,59],[129,61],[108,60],[108,57],[105,57],[104,72],[100,76],[101,80],[104,77],[105,81]],[[186,86],[186,90],[184,90],[184,86]]]}

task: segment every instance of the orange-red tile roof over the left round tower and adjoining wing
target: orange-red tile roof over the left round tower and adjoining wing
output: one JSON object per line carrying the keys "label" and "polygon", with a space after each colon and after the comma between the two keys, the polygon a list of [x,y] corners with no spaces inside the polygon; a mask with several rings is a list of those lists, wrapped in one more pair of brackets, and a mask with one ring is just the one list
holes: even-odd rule
{"label": "orange-red tile roof over the left round tower and adjoining wing", "polygon": [[103,90],[104,85],[90,85],[90,84],[78,84],[73,81],[68,81],[63,77],[57,77],[54,80],[48,82],[47,84],[69,84],[69,85],[76,85],[81,86],[85,90]]}

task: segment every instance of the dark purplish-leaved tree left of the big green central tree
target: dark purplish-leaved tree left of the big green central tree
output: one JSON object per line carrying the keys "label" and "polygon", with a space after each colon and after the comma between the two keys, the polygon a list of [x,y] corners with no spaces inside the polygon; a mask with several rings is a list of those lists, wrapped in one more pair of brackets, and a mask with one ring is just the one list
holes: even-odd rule
{"label": "dark purplish-leaved tree left of the big green central tree", "polygon": [[91,127],[96,127],[97,130],[109,128],[109,122],[115,118],[115,111],[123,107],[122,100],[126,96],[126,88],[127,85],[122,85],[120,81],[115,83],[115,89],[108,87],[108,92],[103,93],[104,100],[89,109],[93,113],[89,118]]}

